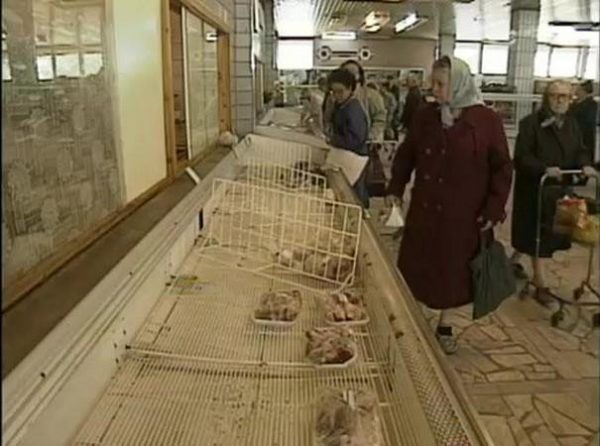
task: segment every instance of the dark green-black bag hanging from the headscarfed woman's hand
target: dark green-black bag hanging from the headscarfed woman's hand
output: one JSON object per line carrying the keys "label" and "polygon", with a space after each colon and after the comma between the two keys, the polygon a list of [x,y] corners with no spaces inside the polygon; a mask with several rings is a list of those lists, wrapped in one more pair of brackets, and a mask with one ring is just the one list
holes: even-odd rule
{"label": "dark green-black bag hanging from the headscarfed woman's hand", "polygon": [[473,319],[495,311],[517,291],[511,262],[494,231],[482,233],[479,252],[470,263],[473,286]]}

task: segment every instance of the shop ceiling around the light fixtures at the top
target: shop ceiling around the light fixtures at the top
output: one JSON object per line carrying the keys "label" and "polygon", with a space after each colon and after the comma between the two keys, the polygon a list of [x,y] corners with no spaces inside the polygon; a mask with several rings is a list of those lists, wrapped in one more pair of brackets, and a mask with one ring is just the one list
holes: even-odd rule
{"label": "shop ceiling around the light fixtures at the top", "polygon": [[[386,28],[370,38],[397,37],[393,24],[410,12],[428,17],[426,24],[401,38],[432,38],[456,33],[459,40],[510,40],[510,0],[355,2],[346,0],[275,0],[280,35],[315,36],[324,31],[357,31],[371,11],[387,11]],[[600,0],[541,0],[538,40],[555,45],[598,46],[598,32],[574,31],[548,25],[552,20],[599,21]]]}

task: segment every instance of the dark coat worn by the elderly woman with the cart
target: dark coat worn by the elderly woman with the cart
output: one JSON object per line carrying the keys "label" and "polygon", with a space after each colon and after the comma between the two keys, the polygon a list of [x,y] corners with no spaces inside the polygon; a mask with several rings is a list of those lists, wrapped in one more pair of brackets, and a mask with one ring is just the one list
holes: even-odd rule
{"label": "dark coat worn by the elderly woman with the cart", "polygon": [[[544,111],[535,112],[519,123],[515,144],[515,190],[512,215],[512,245],[524,254],[536,255],[536,228],[539,183],[548,167],[580,169],[589,165],[589,152],[583,145],[579,126],[567,116],[559,129]],[[549,181],[542,196],[542,236],[539,257],[551,257],[557,250],[569,249],[568,237],[552,233],[556,200],[567,191],[572,178],[560,184]]]}

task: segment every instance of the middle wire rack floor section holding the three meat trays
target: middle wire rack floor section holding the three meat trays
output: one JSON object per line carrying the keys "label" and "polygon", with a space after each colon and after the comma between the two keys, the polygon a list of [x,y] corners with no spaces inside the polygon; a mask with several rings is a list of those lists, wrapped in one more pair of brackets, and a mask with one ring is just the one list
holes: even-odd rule
{"label": "middle wire rack floor section holding the three meat trays", "polygon": [[[296,324],[271,328],[256,325],[252,314],[264,292],[290,289],[289,286],[208,259],[200,258],[194,269],[199,277],[210,278],[202,290],[195,294],[167,294],[136,336],[132,348],[239,365],[312,367],[305,359],[305,332],[327,326],[321,299],[331,287],[324,285],[322,293],[304,291]],[[375,302],[366,303],[367,311],[371,320],[383,323],[385,315]],[[353,329],[358,363],[388,364],[394,357],[390,334],[376,327]]]}

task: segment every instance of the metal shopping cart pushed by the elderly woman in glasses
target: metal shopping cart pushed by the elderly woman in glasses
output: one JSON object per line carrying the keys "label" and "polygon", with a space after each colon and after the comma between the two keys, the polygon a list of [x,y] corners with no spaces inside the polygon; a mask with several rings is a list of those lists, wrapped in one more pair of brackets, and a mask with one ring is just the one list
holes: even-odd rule
{"label": "metal shopping cart pushed by the elderly woman in glasses", "polygon": [[[566,169],[560,171],[561,176],[566,175],[579,175],[583,176],[584,171],[580,169]],[[537,227],[536,227],[536,238],[535,238],[535,257],[539,258],[540,246],[542,241],[542,207],[543,207],[543,191],[544,186],[546,186],[547,180],[550,178],[548,174],[544,174],[540,179],[540,186],[538,190],[537,196]],[[594,180],[594,203],[596,204],[596,209],[598,208],[598,203],[600,203],[600,184],[598,182],[598,173],[595,173],[591,176]],[[592,284],[592,270],[594,264],[594,255],[595,251],[598,248],[598,243],[587,245],[586,247],[589,249],[588,262],[587,262],[587,272],[584,280],[581,284],[573,290],[573,300],[567,300],[561,296],[558,296],[556,293],[552,291],[546,291],[550,297],[552,297],[558,303],[558,309],[552,314],[550,317],[550,323],[553,327],[556,327],[560,322],[562,322],[565,318],[565,306],[571,305],[576,306],[578,308],[582,307],[598,307],[600,306],[600,300],[598,302],[581,302],[581,297],[585,294],[586,291],[589,291],[591,294],[600,299],[600,292],[593,286]],[[534,289],[537,291],[537,286],[531,281],[527,281],[523,289],[521,290],[520,297],[525,298],[530,295],[530,290]],[[600,313],[596,313],[593,315],[592,324],[595,327],[600,326]]]}

